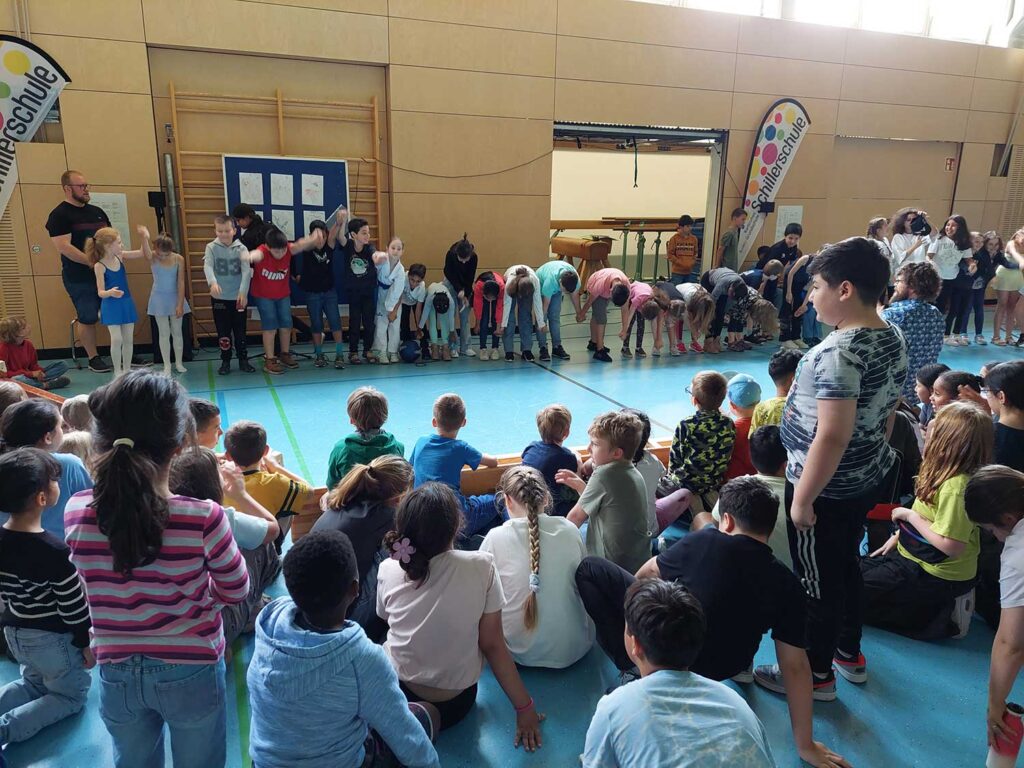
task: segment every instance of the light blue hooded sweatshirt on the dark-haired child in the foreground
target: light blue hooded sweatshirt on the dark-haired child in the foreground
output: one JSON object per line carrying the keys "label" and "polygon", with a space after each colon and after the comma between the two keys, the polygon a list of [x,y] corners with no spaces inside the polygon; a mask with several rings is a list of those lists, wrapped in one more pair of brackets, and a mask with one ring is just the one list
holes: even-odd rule
{"label": "light blue hooded sweatshirt on the dark-haired child in the foreground", "polygon": [[296,623],[281,597],[260,611],[249,665],[249,754],[260,768],[357,768],[368,728],[403,765],[439,768],[384,649],[352,622],[337,632]]}

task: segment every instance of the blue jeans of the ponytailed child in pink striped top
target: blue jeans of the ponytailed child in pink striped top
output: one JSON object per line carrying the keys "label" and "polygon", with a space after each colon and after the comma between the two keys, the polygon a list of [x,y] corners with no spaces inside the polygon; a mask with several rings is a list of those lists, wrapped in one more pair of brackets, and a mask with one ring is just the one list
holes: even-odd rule
{"label": "blue jeans of the ponytailed child in pink striped top", "polygon": [[175,766],[223,768],[224,663],[169,664],[134,655],[99,665],[99,716],[115,768],[163,768],[164,723]]}

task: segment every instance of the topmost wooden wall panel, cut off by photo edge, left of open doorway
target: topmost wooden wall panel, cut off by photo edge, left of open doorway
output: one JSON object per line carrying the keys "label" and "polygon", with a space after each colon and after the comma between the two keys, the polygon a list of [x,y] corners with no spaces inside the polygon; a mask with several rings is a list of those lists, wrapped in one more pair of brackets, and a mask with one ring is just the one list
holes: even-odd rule
{"label": "topmost wooden wall panel, cut off by photo edge, left of open doorway", "polygon": [[555,7],[550,0],[388,0],[392,18],[546,33],[555,31]]}

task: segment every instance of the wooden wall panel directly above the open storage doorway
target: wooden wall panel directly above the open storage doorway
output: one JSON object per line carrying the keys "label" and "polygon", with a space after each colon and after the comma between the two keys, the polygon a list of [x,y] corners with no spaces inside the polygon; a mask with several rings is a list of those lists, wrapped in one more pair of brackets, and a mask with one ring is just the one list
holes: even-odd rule
{"label": "wooden wall panel directly above the open storage doorway", "polygon": [[558,80],[555,119],[568,122],[726,128],[731,94],[726,91]]}

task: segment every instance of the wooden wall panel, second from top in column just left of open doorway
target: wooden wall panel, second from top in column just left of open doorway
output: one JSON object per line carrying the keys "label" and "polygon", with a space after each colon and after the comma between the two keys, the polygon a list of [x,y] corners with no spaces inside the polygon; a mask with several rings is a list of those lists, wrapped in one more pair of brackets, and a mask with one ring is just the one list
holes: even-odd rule
{"label": "wooden wall panel, second from top in column just left of open doorway", "polygon": [[534,32],[390,20],[391,63],[552,77],[555,38]]}

